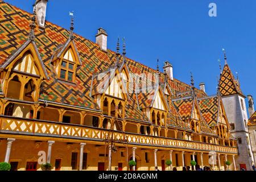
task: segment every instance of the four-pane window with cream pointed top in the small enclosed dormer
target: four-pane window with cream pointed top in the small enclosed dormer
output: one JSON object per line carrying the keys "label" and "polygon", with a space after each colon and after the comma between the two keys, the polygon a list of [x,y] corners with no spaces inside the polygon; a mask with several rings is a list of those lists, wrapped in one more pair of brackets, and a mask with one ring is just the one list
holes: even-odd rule
{"label": "four-pane window with cream pointed top in the small enclosed dormer", "polygon": [[69,48],[60,64],[60,78],[73,82],[75,68],[75,56],[73,55],[71,48]]}

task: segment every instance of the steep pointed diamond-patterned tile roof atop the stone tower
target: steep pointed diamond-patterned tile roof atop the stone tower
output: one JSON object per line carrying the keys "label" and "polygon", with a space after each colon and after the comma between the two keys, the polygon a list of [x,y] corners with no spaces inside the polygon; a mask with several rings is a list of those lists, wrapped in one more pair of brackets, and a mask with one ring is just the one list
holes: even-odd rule
{"label": "steep pointed diamond-patterned tile roof atop the stone tower", "polygon": [[234,78],[228,64],[225,64],[223,72],[221,73],[220,93],[221,96],[228,96],[231,94],[241,94],[243,96],[239,82]]}

